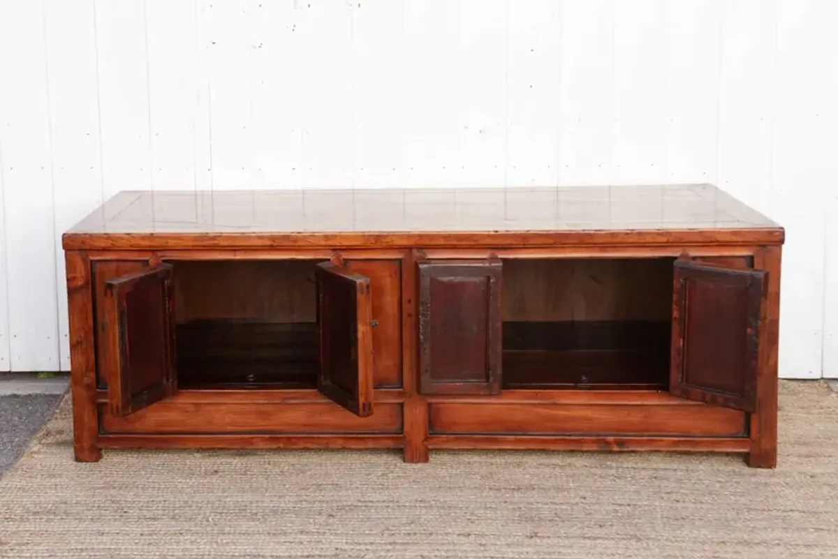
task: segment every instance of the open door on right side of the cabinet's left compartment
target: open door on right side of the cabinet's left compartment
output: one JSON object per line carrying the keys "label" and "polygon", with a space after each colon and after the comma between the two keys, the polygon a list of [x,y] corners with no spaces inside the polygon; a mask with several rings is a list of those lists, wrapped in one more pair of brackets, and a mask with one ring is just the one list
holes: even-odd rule
{"label": "open door on right side of the cabinet's left compartment", "polygon": [[372,414],[370,278],[318,264],[318,390],[362,418]]}

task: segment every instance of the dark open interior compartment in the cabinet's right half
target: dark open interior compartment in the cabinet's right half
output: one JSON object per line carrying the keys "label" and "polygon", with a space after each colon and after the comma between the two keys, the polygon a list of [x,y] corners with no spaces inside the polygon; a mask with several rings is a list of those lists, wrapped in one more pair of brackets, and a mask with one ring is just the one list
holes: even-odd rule
{"label": "dark open interior compartment in the cabinet's right half", "polygon": [[505,259],[504,388],[665,388],[672,258]]}

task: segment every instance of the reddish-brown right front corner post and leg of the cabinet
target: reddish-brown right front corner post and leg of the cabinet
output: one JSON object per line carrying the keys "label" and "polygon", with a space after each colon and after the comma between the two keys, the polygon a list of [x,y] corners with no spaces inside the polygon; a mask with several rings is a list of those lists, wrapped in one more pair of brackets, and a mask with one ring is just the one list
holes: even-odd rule
{"label": "reddish-brown right front corner post and leg of the cabinet", "polygon": [[752,468],[777,465],[777,355],[779,346],[780,264],[779,246],[763,247],[754,258],[754,267],[767,275],[765,303],[762,305],[763,328],[759,332],[759,367],[757,377],[757,413],[751,416],[751,453],[747,464]]}

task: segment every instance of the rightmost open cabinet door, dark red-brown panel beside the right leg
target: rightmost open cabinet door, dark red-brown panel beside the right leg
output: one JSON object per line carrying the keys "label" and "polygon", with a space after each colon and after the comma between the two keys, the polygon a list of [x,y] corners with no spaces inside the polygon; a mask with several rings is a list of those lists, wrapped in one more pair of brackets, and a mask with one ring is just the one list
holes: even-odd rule
{"label": "rightmost open cabinet door, dark red-brown panel beside the right leg", "polygon": [[765,272],[675,261],[670,393],[756,411]]}

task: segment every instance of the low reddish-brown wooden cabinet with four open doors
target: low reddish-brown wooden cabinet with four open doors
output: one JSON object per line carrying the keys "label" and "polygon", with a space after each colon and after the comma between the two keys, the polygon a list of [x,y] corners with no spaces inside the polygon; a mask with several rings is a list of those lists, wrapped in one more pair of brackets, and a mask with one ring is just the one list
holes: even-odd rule
{"label": "low reddish-brown wooden cabinet with four open doors", "polygon": [[121,192],[65,233],[75,458],[773,467],[783,228],[711,185]]}

